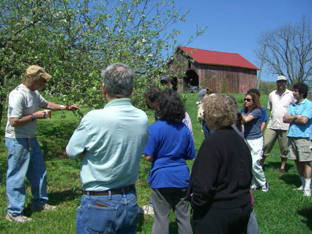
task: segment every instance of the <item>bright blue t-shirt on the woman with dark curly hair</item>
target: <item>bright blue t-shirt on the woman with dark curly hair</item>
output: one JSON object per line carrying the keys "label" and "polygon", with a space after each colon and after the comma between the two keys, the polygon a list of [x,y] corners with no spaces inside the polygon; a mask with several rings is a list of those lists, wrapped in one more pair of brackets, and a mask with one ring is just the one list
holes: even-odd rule
{"label": "bright blue t-shirt on the woman with dark curly hair", "polygon": [[153,157],[148,183],[152,189],[184,188],[189,185],[187,159],[195,158],[190,130],[183,122],[158,120],[149,127],[150,137],[143,154]]}

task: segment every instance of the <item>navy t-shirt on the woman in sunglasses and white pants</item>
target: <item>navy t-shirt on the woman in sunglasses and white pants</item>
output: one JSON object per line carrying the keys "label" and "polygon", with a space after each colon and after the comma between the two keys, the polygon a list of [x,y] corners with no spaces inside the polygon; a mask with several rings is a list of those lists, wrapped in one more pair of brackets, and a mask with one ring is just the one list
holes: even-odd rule
{"label": "navy t-shirt on the woman in sunglasses and white pants", "polygon": [[244,124],[244,137],[245,139],[257,139],[263,136],[261,132],[262,112],[256,108],[251,112],[242,112],[242,115],[248,116],[250,113],[252,113],[254,119]]}

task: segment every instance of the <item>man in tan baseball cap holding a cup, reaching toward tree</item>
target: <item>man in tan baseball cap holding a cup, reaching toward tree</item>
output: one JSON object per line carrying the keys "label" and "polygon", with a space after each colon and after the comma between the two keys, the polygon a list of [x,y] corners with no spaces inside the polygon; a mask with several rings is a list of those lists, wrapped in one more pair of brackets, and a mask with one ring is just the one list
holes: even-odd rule
{"label": "man in tan baseball cap holding a cup, reaching toward tree", "polygon": [[32,221],[22,215],[25,207],[25,176],[31,184],[31,211],[55,210],[47,204],[47,171],[43,154],[36,139],[37,119],[46,118],[49,110],[80,110],[75,104],[59,105],[46,101],[38,90],[51,78],[42,67],[32,65],[27,68],[22,84],[9,94],[8,116],[5,128],[5,146],[8,153],[6,194],[9,200],[5,219],[19,223]]}

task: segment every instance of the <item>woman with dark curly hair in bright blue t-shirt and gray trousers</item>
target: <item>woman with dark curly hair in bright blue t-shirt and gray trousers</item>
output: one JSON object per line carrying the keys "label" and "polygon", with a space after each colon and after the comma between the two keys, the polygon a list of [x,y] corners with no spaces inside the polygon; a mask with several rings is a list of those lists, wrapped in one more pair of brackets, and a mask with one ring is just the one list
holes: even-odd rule
{"label": "woman with dark curly hair in bright blue t-shirt and gray trousers", "polygon": [[192,135],[182,122],[185,108],[172,89],[161,91],[158,98],[159,120],[149,127],[150,137],[144,149],[152,162],[148,183],[152,189],[154,224],[152,234],[169,234],[172,207],[179,234],[192,234],[189,204],[186,200],[190,170],[185,160],[195,158]]}

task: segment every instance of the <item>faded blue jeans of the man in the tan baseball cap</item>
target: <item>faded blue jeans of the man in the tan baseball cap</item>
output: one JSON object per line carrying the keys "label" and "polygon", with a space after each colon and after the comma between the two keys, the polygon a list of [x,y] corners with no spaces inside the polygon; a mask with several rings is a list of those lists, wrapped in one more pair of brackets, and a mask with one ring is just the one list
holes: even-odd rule
{"label": "faded blue jeans of the man in the tan baseball cap", "polygon": [[27,138],[5,138],[8,153],[8,171],[6,174],[6,195],[9,205],[7,211],[17,216],[25,205],[25,176],[27,176],[31,193],[31,202],[42,206],[48,201],[47,170],[42,151],[36,137],[30,139],[32,150],[29,150]]}

